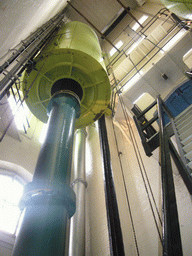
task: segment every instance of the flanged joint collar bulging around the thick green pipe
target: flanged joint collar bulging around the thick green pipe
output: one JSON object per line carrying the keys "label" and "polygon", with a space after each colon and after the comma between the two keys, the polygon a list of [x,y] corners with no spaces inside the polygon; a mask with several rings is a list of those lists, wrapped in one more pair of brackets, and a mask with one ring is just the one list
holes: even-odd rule
{"label": "flanged joint collar bulging around the thick green pipe", "polygon": [[20,208],[39,205],[64,205],[71,218],[76,210],[76,196],[73,189],[68,186],[31,182],[25,186]]}

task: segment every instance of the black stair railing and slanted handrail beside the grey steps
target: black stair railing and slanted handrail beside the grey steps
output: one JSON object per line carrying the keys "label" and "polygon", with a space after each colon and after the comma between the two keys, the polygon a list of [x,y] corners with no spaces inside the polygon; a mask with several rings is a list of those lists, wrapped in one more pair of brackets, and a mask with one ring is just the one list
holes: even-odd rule
{"label": "black stair railing and slanted handrail beside the grey steps", "polygon": [[[152,109],[152,107],[154,107],[156,104],[161,106],[161,109],[158,110],[158,113],[151,120],[148,121],[147,119],[145,119],[146,122],[145,122],[145,124],[142,125],[140,122],[140,119],[143,118],[144,115],[150,109]],[[170,119],[170,123],[167,124],[166,126],[164,126],[164,124],[163,124],[163,112],[165,112]],[[146,137],[147,128],[150,125],[152,125],[157,119],[159,120],[159,124],[161,122],[159,133],[157,132],[156,134],[147,138]],[[133,117],[133,120],[135,121],[135,125],[139,132],[141,142],[143,144],[143,148],[144,148],[147,156],[151,156],[152,151],[155,150],[159,145],[161,145],[162,138],[160,138],[160,137],[164,137],[164,134],[163,134],[164,132],[166,132],[166,136],[168,136],[169,138],[171,136],[175,135],[179,154],[176,152],[177,150],[174,148],[173,144],[169,145],[170,153],[172,154],[173,160],[178,168],[178,171],[179,171],[189,193],[192,194],[192,177],[190,176],[191,171],[190,171],[189,167],[187,166],[187,160],[185,159],[184,152],[182,150],[182,145],[181,145],[181,142],[179,139],[179,134],[177,132],[175,122],[174,122],[174,116],[171,113],[171,111],[169,110],[169,108],[166,106],[165,102],[159,96],[158,99],[156,101],[154,101],[152,104],[150,104],[150,106],[148,106],[144,111],[136,114],[136,116]],[[163,159],[162,159],[162,161],[163,161]]]}

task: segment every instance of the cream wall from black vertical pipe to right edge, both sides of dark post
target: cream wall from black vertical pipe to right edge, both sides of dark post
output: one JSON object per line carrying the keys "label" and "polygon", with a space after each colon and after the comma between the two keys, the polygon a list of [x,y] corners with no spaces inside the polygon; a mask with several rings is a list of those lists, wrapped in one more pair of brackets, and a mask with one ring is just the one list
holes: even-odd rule
{"label": "cream wall from black vertical pipe to right edge, both sides of dark post", "polygon": [[[126,184],[126,186],[124,187],[111,118],[106,118],[106,122],[111,151],[112,168],[114,171],[117,200],[119,205],[119,213],[121,218],[121,227],[123,231],[125,253],[126,255],[131,256],[137,255],[133,237],[133,230],[130,223],[130,213],[128,211],[127,200],[125,196],[126,187],[130,201],[140,255],[162,255],[162,246],[157,235],[156,226],[149,206],[149,201],[147,198],[139,166],[135,157],[134,149],[131,142],[129,141],[130,136],[129,134],[128,136],[124,136],[125,133],[128,133],[128,129],[122,132],[119,129],[119,126],[115,126],[119,151],[122,152],[120,157],[122,161],[123,174]],[[135,125],[133,124],[132,120],[131,123],[135,132],[136,140],[140,148],[140,153],[143,158],[143,162],[147,171],[149,181],[151,183],[158,209],[161,212],[161,175],[160,167],[158,164],[158,149],[154,152],[153,156],[147,157],[143,151],[140,138],[137,134]],[[178,203],[183,253],[184,256],[190,256],[192,251],[192,200],[174,164],[173,173]]]}

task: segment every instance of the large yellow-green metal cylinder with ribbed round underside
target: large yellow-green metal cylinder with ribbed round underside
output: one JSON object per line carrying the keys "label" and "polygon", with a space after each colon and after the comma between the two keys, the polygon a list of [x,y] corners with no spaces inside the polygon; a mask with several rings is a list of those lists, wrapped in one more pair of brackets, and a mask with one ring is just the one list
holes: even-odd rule
{"label": "large yellow-green metal cylinder with ribbed round underside", "polygon": [[[86,24],[76,21],[65,24],[34,63],[32,71],[24,75],[23,91],[31,88],[26,103],[42,122],[47,122],[48,103],[60,87],[72,90],[81,99],[76,128],[93,123],[107,111],[110,84],[98,38]],[[70,81],[73,88],[69,88]]]}

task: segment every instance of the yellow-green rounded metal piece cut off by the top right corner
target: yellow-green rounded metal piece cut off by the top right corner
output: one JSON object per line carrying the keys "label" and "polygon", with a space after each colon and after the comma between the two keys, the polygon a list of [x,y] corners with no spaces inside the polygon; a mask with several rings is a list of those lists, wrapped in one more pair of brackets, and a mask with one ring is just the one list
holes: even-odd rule
{"label": "yellow-green rounded metal piece cut off by the top right corner", "polygon": [[192,0],[161,0],[177,16],[192,20]]}

